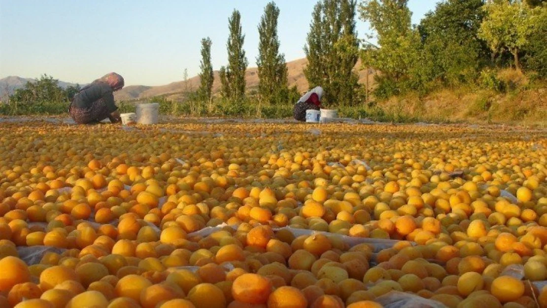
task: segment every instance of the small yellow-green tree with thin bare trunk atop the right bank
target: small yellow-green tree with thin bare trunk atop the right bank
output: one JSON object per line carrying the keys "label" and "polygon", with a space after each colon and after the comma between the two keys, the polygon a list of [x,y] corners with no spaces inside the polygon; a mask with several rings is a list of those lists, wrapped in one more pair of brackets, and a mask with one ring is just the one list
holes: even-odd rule
{"label": "small yellow-green tree with thin bare trunk atop the right bank", "polygon": [[479,37],[486,40],[496,54],[509,51],[514,57],[515,68],[520,70],[519,53],[533,32],[531,7],[519,0],[500,0],[486,3],[484,10],[487,15],[479,29]]}

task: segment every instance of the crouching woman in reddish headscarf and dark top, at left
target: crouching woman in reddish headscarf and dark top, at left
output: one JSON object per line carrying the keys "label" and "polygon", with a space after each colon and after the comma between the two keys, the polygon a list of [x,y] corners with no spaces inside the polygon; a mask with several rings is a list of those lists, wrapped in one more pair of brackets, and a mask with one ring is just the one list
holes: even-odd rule
{"label": "crouching woman in reddish headscarf and dark top, at left", "polygon": [[98,123],[106,118],[112,123],[121,121],[118,107],[114,104],[114,91],[124,87],[124,78],[109,73],[84,86],[72,99],[68,114],[78,124]]}

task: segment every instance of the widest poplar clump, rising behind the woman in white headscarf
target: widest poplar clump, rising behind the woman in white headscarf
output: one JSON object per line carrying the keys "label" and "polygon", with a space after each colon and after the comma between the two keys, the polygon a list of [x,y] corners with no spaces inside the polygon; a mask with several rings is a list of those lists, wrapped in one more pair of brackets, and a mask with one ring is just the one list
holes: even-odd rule
{"label": "widest poplar clump, rising behind the woman in white headscarf", "polygon": [[354,0],[322,0],[313,9],[304,47],[308,60],[304,74],[311,88],[323,87],[327,104],[349,105],[357,97],[355,14]]}

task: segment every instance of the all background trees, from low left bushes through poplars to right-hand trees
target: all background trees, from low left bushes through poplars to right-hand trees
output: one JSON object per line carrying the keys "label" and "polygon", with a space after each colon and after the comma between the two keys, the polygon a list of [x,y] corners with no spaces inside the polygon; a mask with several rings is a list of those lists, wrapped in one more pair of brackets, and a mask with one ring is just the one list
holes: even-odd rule
{"label": "all background trees, from low left bushes through poplars to right-hand trees", "polygon": [[[445,0],[413,25],[408,0],[319,0],[313,8],[304,51],[304,74],[310,88],[324,88],[330,106],[360,106],[368,90],[358,84],[354,69],[374,68],[376,99],[408,92],[427,94],[440,88],[488,83],[496,88],[495,70],[512,67],[530,77],[547,77],[547,0]],[[287,65],[277,33],[280,9],[267,3],[259,32],[259,85],[253,103],[276,106],[295,103],[296,86],[289,89]],[[373,33],[359,39],[356,18]],[[220,95],[230,105],[249,102],[245,73],[249,61],[243,43],[241,14],[228,19],[228,63],[219,70]],[[213,66],[210,38],[201,40],[200,85],[191,96],[212,101]],[[43,76],[28,83],[10,101],[67,97],[68,92]],[[49,93],[49,94],[48,94]]]}

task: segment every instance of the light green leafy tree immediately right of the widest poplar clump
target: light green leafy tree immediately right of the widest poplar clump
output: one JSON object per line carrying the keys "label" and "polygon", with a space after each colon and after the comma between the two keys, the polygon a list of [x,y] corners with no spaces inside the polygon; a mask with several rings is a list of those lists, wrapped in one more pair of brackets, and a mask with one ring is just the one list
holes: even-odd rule
{"label": "light green leafy tree immediately right of the widest poplar clump", "polygon": [[361,59],[365,67],[381,72],[375,94],[388,97],[420,83],[415,70],[421,59],[420,35],[412,27],[408,0],[365,0],[359,7],[360,17],[370,23],[380,47],[368,43]]}

